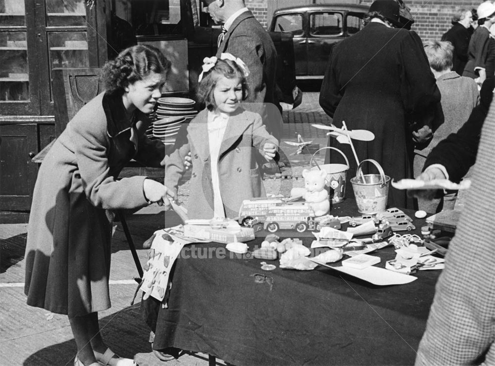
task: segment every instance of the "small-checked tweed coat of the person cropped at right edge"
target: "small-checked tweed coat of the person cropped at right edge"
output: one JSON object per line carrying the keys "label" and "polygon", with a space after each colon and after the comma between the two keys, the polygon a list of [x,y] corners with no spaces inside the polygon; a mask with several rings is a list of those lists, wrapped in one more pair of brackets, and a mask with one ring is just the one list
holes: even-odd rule
{"label": "small-checked tweed coat of the person cropped at right edge", "polygon": [[448,246],[416,365],[495,365],[495,104],[483,125],[469,199]]}

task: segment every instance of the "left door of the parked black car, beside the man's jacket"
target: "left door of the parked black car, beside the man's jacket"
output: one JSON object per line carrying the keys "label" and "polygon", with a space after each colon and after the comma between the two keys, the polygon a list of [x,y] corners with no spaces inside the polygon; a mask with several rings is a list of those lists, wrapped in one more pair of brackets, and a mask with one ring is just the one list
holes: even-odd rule
{"label": "left door of the parked black car, beside the man's jacket", "polygon": [[306,33],[304,32],[304,13],[294,12],[278,15],[275,19],[275,32],[291,32],[294,43],[296,75],[307,75]]}

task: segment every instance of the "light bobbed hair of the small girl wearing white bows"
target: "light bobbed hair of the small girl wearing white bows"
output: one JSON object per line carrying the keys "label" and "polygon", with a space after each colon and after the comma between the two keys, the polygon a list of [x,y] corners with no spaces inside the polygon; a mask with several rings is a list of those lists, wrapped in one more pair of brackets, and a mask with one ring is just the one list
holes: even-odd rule
{"label": "light bobbed hair of the small girl wearing white bows", "polygon": [[217,105],[215,98],[213,97],[213,90],[219,76],[225,76],[228,79],[238,77],[241,79],[241,85],[243,89],[243,100],[247,98],[247,80],[244,74],[244,70],[232,60],[217,60],[215,66],[213,66],[208,72],[205,72],[203,78],[198,85],[198,101],[204,103],[209,111],[213,111]]}

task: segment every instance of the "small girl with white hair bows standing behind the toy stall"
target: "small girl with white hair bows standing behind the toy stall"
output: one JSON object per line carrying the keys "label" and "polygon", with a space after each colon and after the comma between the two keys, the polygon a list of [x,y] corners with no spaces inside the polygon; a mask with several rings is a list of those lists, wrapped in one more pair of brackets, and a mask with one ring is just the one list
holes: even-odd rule
{"label": "small girl with white hair bows standing behind the toy stall", "polygon": [[248,70],[231,54],[205,58],[198,97],[206,108],[181,129],[166,160],[165,185],[177,192],[191,152],[190,219],[234,218],[244,199],[265,196],[256,154],[272,160],[278,141],[257,113],[241,106],[247,97]]}

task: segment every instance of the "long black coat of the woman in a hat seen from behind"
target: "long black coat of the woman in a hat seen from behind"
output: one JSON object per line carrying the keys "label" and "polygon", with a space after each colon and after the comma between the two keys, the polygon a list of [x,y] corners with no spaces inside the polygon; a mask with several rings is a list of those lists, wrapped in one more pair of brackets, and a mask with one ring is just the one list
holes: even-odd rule
{"label": "long black coat of the woman in a hat seen from behind", "polygon": [[[372,131],[373,141],[353,140],[359,161],[374,159],[386,175],[400,180],[412,178],[409,125],[423,125],[426,117],[433,116],[440,91],[419,36],[371,22],[332,48],[319,101],[337,127],[345,121],[349,129]],[[440,123],[433,121],[432,129]],[[329,144],[337,142],[329,140]],[[349,160],[346,196],[352,197],[350,178],[357,164],[349,145],[337,147]],[[332,155],[327,152],[326,162]],[[413,205],[405,191],[393,187],[388,203],[403,208]]]}

